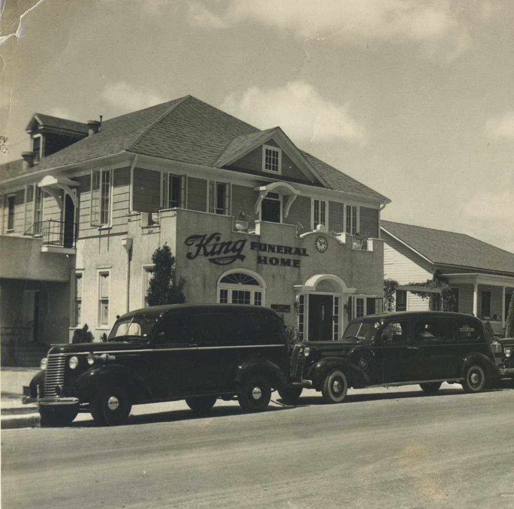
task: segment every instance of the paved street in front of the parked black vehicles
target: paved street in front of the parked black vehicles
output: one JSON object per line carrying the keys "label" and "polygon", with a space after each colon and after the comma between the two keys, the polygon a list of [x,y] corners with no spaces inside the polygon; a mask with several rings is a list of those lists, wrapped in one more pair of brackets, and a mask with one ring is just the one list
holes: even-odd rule
{"label": "paved street in front of the parked black vehicles", "polygon": [[[352,402],[2,432],[2,507],[514,507],[514,391],[354,391]],[[148,407],[147,407],[148,408]],[[170,411],[170,409],[172,409]]]}

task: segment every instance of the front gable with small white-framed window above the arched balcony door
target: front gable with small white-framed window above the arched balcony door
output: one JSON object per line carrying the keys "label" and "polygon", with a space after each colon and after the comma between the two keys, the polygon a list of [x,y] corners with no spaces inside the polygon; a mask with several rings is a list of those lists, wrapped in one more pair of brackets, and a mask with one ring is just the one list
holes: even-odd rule
{"label": "front gable with small white-framed window above the arched balcony door", "polygon": [[328,187],[279,127],[235,137],[215,166],[249,171],[265,178]]}

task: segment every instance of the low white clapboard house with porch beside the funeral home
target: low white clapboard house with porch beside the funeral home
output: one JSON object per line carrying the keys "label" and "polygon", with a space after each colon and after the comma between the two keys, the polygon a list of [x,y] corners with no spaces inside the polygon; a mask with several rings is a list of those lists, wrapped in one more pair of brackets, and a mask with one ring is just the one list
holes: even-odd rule
{"label": "low white clapboard house with porch beside the funeral home", "polygon": [[409,291],[409,283],[432,279],[439,270],[453,289],[455,309],[505,328],[514,292],[514,253],[463,233],[381,221],[384,278],[396,280],[396,310],[428,310],[428,299]]}

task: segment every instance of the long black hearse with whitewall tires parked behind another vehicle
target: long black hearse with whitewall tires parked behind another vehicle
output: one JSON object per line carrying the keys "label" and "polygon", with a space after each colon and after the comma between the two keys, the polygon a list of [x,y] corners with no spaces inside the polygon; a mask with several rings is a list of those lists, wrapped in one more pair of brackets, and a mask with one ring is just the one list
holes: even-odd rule
{"label": "long black hearse with whitewall tires parked behind another vehicle", "polygon": [[292,380],[327,403],[343,402],[349,387],[419,384],[433,394],[448,381],[479,392],[499,376],[482,322],[460,313],[366,316],[348,323],[340,341],[304,341],[291,357]]}

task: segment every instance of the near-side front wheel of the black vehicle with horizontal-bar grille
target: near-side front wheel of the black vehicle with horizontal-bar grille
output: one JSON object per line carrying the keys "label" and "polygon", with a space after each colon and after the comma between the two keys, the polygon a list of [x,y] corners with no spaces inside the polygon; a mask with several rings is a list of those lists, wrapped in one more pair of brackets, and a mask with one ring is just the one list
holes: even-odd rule
{"label": "near-side front wheel of the black vehicle with horizontal-bar grille", "polygon": [[123,423],[132,409],[127,391],[117,385],[106,384],[91,399],[89,410],[97,424],[116,426]]}

